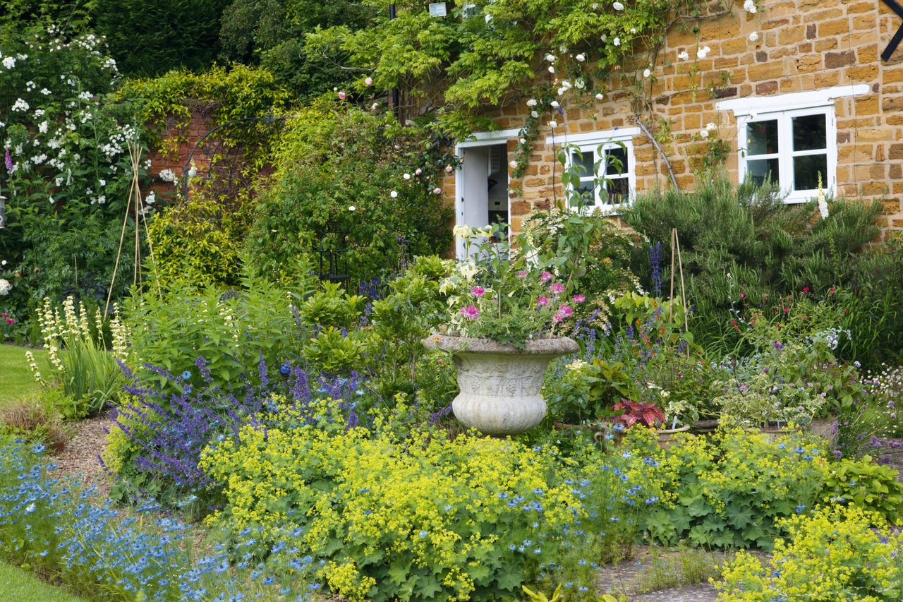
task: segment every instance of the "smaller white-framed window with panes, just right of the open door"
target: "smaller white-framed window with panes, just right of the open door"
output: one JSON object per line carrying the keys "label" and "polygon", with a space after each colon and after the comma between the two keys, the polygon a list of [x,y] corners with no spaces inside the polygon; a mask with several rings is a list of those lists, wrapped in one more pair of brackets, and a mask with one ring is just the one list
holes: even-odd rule
{"label": "smaller white-framed window with panes, just right of the open door", "polygon": [[577,187],[583,207],[598,207],[605,212],[626,207],[637,192],[637,162],[633,136],[637,127],[588,132],[546,138],[546,144],[570,145],[568,166],[576,165],[580,175]]}

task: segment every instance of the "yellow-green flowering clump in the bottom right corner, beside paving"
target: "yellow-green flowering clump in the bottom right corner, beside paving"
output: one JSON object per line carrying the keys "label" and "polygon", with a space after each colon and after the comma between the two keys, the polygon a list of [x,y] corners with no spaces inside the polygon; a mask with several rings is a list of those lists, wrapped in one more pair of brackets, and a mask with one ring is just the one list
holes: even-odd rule
{"label": "yellow-green flowering clump in the bottom right corner, beside paving", "polygon": [[898,600],[903,597],[903,539],[853,505],[825,508],[781,524],[768,562],[740,553],[716,584],[725,602]]}

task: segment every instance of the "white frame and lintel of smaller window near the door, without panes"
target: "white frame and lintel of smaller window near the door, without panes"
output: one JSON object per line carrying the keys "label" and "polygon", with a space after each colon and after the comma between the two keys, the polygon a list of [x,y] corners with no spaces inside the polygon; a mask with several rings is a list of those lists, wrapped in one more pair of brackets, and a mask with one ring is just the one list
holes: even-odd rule
{"label": "white frame and lintel of smaller window near the door, without panes", "polygon": [[[615,148],[623,148],[627,155],[628,169],[624,173],[617,171],[609,174],[612,180],[626,179],[628,181],[628,201],[618,204],[603,202],[602,191],[605,190],[607,183],[600,181],[596,188],[596,198],[593,204],[594,208],[600,209],[602,212],[617,214],[619,210],[627,207],[637,196],[637,157],[633,152],[633,137],[640,134],[638,127],[622,127],[618,129],[609,129],[600,132],[586,132],[583,134],[572,134],[563,136],[562,138],[554,138],[549,136],[545,139],[546,145],[571,145],[572,150],[568,152],[565,167],[570,167],[573,162],[572,153],[579,151],[581,153],[591,152],[593,154],[593,164],[599,163],[599,174],[581,174],[580,181],[590,181],[593,178],[606,177],[606,162],[600,161],[601,157],[597,157],[597,151],[602,153]],[[601,147],[601,148],[600,148]],[[557,161],[557,158],[555,159]],[[607,195],[606,195],[607,198]]]}

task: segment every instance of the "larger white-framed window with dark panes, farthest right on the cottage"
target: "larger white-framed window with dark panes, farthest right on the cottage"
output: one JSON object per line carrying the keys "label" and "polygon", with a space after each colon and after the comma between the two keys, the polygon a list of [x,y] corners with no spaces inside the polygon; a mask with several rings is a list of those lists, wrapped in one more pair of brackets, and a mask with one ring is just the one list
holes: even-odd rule
{"label": "larger white-framed window with dark panes, farthest right on the cottage", "polygon": [[805,202],[837,187],[834,100],[869,92],[867,84],[777,96],[731,99],[716,108],[737,118],[739,176],[776,182],[786,202]]}

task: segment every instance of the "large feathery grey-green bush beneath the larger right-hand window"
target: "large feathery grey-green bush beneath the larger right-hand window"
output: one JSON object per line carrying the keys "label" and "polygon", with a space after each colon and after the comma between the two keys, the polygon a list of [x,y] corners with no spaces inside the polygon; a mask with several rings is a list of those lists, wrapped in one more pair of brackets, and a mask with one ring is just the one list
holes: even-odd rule
{"label": "large feathery grey-green bush beneath the larger right-hand window", "polygon": [[[804,287],[824,295],[832,288],[863,284],[861,277],[869,270],[860,266],[870,262],[857,253],[878,234],[880,202],[837,200],[828,206],[830,215],[823,220],[815,202],[784,204],[773,185],[734,186],[727,178],[716,177],[703,181],[693,193],[666,190],[640,195],[624,221],[650,245],[670,240],[671,230],[677,229],[687,302],[694,306],[694,332],[703,346],[723,352],[736,340],[731,310],[740,294],[771,315],[774,307]],[[651,286],[648,249],[643,246],[634,252],[633,268]],[[670,277],[667,267],[662,268],[662,277]],[[874,302],[872,297],[865,303]],[[877,328],[865,320],[859,326],[853,338],[888,340],[886,334],[873,334]],[[899,353],[898,345],[888,345],[892,348],[875,354]],[[859,344],[847,349],[863,352]]]}

